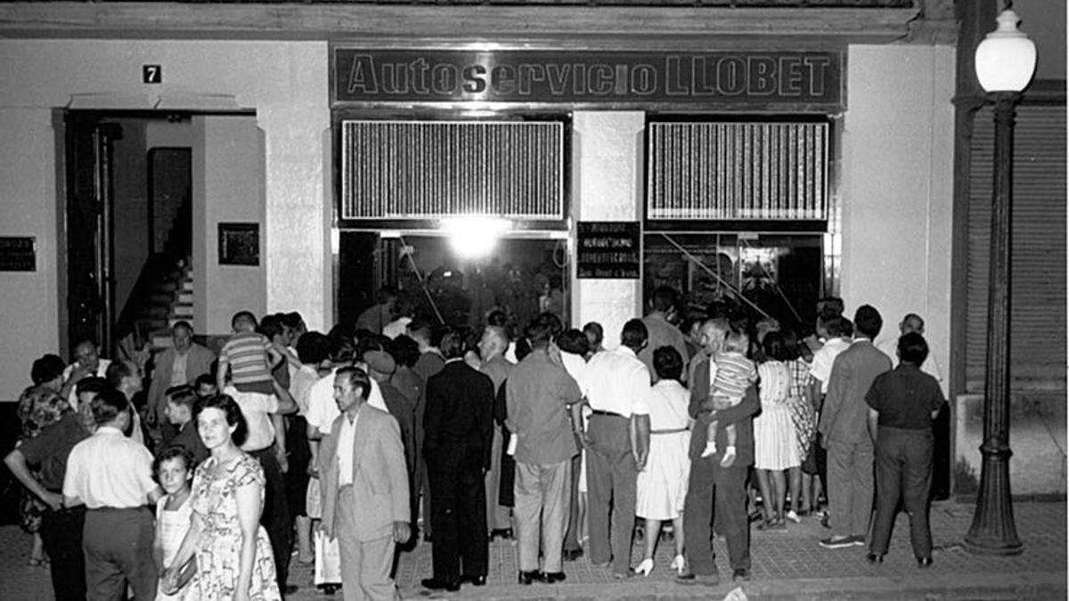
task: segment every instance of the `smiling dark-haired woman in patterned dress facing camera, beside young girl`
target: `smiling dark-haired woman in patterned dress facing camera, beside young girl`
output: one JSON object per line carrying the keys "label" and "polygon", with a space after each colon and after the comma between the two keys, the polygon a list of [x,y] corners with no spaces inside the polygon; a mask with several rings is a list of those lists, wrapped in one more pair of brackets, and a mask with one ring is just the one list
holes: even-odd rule
{"label": "smiling dark-haired woman in patterned dress facing camera, beside young girl", "polygon": [[187,599],[201,601],[280,600],[267,531],[260,526],[264,473],[238,448],[248,434],[232,398],[200,401],[197,428],[212,457],[193,476],[192,520],[174,561],[164,573],[165,591],[176,588],[180,568],[196,556],[197,573]]}

